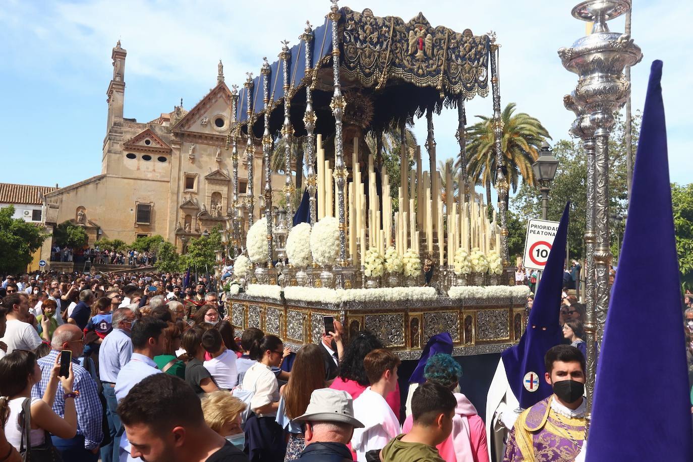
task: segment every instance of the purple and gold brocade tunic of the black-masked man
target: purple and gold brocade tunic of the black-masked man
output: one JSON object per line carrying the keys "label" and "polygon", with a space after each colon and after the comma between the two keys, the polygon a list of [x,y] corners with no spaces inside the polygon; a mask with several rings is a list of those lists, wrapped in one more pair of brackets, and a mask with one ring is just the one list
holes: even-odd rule
{"label": "purple and gold brocade tunic of the black-masked man", "polygon": [[585,419],[554,412],[546,398],[525,410],[510,432],[503,461],[574,461],[585,438]]}

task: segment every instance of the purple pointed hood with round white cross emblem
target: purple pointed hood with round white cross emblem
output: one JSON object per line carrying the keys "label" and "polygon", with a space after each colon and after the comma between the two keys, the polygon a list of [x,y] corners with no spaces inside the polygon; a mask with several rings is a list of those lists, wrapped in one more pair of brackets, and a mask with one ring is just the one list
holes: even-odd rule
{"label": "purple pointed hood with round white cross emblem", "polygon": [[569,208],[570,202],[565,204],[563,209],[561,223],[546,260],[532,310],[529,311],[527,329],[517,345],[501,353],[508,384],[523,409],[536,405],[553,393],[551,385],[544,380],[544,355],[547,350],[563,341],[563,331],[559,326],[559,309],[563,290],[563,258],[568,238]]}

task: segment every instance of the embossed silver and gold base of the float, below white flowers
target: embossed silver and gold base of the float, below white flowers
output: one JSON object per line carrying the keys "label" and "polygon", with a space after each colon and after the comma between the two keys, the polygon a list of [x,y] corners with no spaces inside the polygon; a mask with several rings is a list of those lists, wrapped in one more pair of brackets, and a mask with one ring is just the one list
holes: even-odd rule
{"label": "embossed silver and gold base of the float, below white flowers", "polygon": [[453,355],[498,353],[520,340],[527,323],[524,297],[322,303],[242,293],[227,303],[239,332],[257,327],[297,349],[320,341],[322,317],[329,315],[342,322],[347,339],[364,328],[371,330],[401,359],[421,357],[428,339],[440,332],[450,332]]}

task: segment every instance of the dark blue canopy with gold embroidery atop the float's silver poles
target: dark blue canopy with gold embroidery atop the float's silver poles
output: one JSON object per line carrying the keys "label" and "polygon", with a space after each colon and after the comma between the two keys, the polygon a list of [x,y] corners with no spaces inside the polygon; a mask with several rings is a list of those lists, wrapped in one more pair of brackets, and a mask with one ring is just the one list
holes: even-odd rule
{"label": "dark blue canopy with gold embroidery atop the float's silver poles", "polygon": [[[442,105],[454,106],[462,96],[470,100],[489,93],[488,35],[462,33],[444,26],[433,27],[421,13],[410,21],[394,16],[377,17],[369,9],[356,12],[340,9],[337,22],[340,73],[347,98],[345,116],[349,116],[350,100],[359,100],[369,119],[364,128],[379,129],[392,121],[401,121],[425,109],[439,110]],[[306,134],[302,118],[306,107],[306,85],[313,89],[313,107],[317,115],[316,133],[331,134],[334,118],[329,107],[333,92],[331,19],[299,37],[288,57],[288,91],[283,87],[282,60],[270,64],[270,132],[277,134],[283,123],[283,98],[291,98],[290,121],[297,136]],[[306,39],[311,59],[306,63]],[[310,69],[306,69],[307,65]],[[265,71],[266,72],[266,71]],[[247,132],[248,100],[252,116],[252,132],[261,136],[264,112],[261,72],[241,89],[236,120]],[[252,85],[250,84],[252,82]],[[250,98],[248,98],[248,94]],[[357,117],[363,114],[354,114]],[[365,122],[361,117],[360,122]]]}

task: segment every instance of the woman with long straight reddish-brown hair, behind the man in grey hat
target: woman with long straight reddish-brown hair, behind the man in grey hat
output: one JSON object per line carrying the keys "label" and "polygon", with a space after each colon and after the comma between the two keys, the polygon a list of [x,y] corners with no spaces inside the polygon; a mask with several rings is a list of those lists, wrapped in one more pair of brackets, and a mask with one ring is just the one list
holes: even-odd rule
{"label": "woman with long straight reddish-brown hair, behind the man in grey hat", "polygon": [[281,388],[277,423],[289,436],[285,462],[298,459],[305,447],[301,423],[294,422],[294,419],[306,413],[310,393],[326,386],[325,364],[320,348],[315,344],[301,347],[294,359],[289,382]]}

